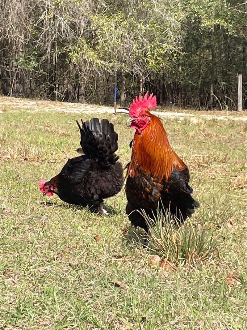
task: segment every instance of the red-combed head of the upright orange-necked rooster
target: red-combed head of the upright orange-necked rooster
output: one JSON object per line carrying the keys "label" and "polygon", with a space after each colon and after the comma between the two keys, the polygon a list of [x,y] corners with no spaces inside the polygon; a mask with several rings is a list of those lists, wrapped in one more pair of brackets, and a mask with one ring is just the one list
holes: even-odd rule
{"label": "red-combed head of the upright orange-necked rooster", "polygon": [[149,110],[156,108],[156,96],[153,93],[148,97],[149,91],[142,98],[141,94],[139,97],[135,97],[129,107],[129,120],[131,121],[130,127],[133,127],[141,134],[147,125],[151,121]]}

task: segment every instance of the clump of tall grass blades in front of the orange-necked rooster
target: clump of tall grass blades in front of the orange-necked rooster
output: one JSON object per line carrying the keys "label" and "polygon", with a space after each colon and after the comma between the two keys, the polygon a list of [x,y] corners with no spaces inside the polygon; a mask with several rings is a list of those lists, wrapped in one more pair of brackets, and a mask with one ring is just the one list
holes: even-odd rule
{"label": "clump of tall grass blades in front of the orange-necked rooster", "polygon": [[213,258],[218,253],[219,240],[213,228],[205,224],[192,224],[188,219],[185,224],[170,212],[159,212],[155,220],[142,211],[149,230],[149,245],[161,258],[166,258],[174,265],[195,264]]}

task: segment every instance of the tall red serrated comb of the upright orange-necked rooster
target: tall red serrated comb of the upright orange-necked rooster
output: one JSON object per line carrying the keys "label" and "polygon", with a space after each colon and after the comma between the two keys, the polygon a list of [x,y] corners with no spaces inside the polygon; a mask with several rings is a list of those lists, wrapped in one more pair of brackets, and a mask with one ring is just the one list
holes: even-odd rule
{"label": "tall red serrated comb of the upright orange-necked rooster", "polygon": [[140,112],[145,109],[154,109],[157,106],[156,102],[156,96],[153,96],[153,93],[148,97],[149,91],[144,95],[142,98],[141,93],[139,94],[139,97],[135,97],[133,99],[133,102],[131,103],[129,107],[129,116],[130,117],[136,117],[139,116]]}

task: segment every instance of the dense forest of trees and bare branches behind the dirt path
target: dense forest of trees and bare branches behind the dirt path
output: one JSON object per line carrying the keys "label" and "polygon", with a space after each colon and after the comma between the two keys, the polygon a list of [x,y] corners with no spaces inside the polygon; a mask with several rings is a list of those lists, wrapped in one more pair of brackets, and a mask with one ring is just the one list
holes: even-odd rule
{"label": "dense forest of trees and bare branches behind the dirt path", "polygon": [[247,108],[246,1],[1,0],[2,95],[128,106]]}

